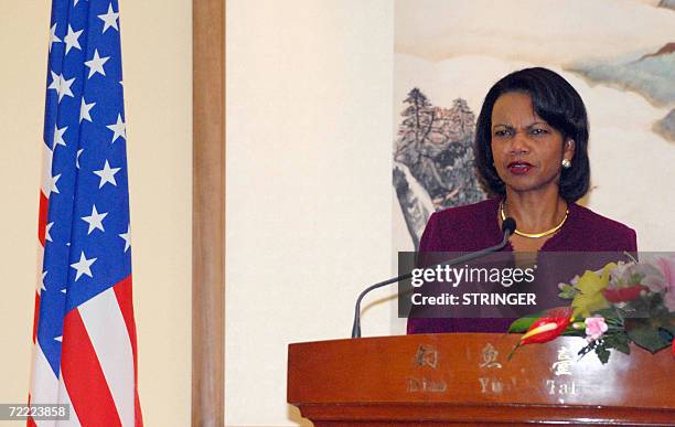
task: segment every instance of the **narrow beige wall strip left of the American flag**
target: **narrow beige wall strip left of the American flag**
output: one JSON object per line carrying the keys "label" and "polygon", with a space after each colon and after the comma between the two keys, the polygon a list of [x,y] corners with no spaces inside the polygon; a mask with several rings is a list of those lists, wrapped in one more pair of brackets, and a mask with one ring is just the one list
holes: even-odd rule
{"label": "narrow beige wall strip left of the American flag", "polygon": [[50,14],[46,1],[2,1],[0,17],[0,403],[22,403],[30,384]]}

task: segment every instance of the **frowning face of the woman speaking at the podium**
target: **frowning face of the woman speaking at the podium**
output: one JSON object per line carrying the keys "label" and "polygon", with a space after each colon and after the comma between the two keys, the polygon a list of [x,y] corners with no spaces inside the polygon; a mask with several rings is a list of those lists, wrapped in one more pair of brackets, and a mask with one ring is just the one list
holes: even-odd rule
{"label": "frowning face of the woman speaking at the podium", "polygon": [[524,192],[557,189],[562,159],[571,160],[575,143],[540,118],[529,95],[507,93],[492,109],[492,156],[507,188]]}

